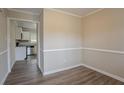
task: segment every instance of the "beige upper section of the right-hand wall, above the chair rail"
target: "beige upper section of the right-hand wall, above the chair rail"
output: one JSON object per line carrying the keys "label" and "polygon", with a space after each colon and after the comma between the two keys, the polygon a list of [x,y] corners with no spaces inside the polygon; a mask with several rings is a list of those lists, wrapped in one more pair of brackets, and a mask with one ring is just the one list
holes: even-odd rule
{"label": "beige upper section of the right-hand wall, above the chair rail", "polygon": [[124,9],[104,9],[83,19],[85,46],[124,50]]}

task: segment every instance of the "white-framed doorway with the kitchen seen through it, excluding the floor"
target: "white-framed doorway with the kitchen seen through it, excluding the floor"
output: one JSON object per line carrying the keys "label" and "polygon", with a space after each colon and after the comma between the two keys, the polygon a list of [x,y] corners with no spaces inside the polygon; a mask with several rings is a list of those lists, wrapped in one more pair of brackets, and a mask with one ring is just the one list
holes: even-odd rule
{"label": "white-framed doorway with the kitchen seen through it, excluding the floor", "polygon": [[40,23],[32,20],[8,18],[7,24],[9,72],[17,62],[36,63],[41,71]]}

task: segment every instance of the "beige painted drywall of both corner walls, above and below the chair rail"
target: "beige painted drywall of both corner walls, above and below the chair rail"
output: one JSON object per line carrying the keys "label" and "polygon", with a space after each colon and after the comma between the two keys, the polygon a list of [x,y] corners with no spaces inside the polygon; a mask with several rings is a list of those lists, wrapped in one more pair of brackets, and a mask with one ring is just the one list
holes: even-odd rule
{"label": "beige painted drywall of both corner walls, above and below the chair rail", "polygon": [[[124,51],[123,16],[124,9],[103,9],[83,17],[81,21],[80,18],[45,9],[44,50],[86,47]],[[54,72],[81,62],[124,78],[123,58],[124,55],[95,50],[48,51],[44,52],[44,69]]]}

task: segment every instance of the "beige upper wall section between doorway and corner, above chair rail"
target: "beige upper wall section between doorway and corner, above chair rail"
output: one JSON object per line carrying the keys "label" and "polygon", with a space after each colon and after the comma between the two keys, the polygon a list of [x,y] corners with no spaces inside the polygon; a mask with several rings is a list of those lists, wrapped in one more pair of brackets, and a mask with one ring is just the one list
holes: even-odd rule
{"label": "beige upper wall section between doorway and corner, above chair rail", "polygon": [[44,49],[78,48],[81,46],[81,18],[44,9]]}

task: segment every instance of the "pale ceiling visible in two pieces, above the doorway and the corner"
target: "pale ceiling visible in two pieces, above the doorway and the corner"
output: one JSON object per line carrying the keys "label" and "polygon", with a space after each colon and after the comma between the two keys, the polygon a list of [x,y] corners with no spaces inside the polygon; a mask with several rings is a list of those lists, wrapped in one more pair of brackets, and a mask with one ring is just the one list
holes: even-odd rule
{"label": "pale ceiling visible in two pieces, above the doorway and the corner", "polygon": [[[13,8],[13,10],[23,11],[32,14],[40,14],[42,8]],[[77,16],[85,16],[100,8],[54,8],[55,10],[71,13]]]}

